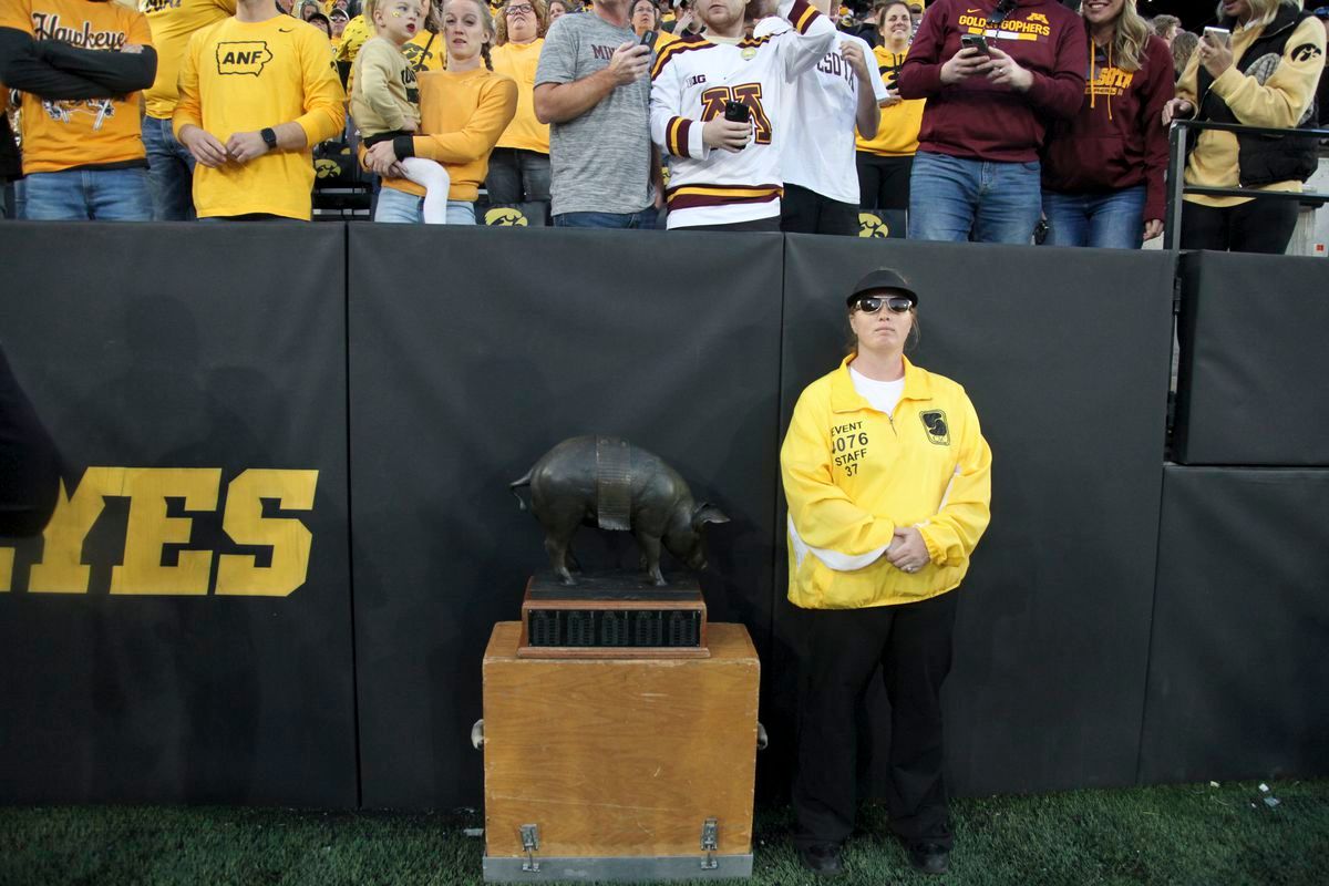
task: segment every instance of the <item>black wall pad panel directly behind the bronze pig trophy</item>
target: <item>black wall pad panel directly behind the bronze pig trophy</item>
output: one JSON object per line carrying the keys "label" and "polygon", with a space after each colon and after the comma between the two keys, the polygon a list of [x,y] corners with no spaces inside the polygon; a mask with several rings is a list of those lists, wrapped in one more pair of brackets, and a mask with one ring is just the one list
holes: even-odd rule
{"label": "black wall pad panel directly behind the bronze pig trophy", "polygon": [[[566,437],[626,437],[728,514],[707,529],[710,618],[768,648],[781,238],[502,234],[351,228],[367,806],[478,805],[481,656],[546,566],[508,484]],[[385,255],[436,282],[385,279]],[[583,527],[574,543],[587,569],[637,565],[626,533]]]}

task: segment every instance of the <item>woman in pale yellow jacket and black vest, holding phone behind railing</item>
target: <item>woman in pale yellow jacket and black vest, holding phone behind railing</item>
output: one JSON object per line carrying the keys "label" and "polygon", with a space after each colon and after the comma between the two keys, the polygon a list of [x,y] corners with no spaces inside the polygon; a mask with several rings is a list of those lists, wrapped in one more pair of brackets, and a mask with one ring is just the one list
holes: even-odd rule
{"label": "woman in pale yellow jacket and black vest, holding phone behind railing", "polygon": [[[1325,29],[1301,5],[1280,0],[1224,0],[1163,108],[1174,118],[1292,129],[1313,126],[1309,113],[1324,70]],[[1300,191],[1314,170],[1316,139],[1268,138],[1205,130],[1195,135],[1185,183],[1264,191]],[[1294,199],[1188,194],[1181,248],[1284,252],[1297,223]]]}

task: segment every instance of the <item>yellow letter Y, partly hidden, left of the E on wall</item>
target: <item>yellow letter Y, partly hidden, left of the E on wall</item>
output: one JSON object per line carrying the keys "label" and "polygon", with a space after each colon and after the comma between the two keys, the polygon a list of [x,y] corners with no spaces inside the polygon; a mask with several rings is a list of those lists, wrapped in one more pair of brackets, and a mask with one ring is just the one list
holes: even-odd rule
{"label": "yellow letter Y, partly hidden, left of the E on wall", "polygon": [[41,562],[33,565],[28,578],[29,594],[88,592],[92,570],[82,563],[82,542],[106,506],[104,495],[124,494],[124,468],[89,468],[73,495],[60,484],[56,511],[43,533]]}

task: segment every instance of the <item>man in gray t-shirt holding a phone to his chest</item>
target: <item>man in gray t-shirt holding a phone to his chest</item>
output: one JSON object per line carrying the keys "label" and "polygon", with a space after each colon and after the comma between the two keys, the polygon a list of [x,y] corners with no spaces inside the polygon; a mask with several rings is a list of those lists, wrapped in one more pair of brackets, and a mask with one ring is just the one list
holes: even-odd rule
{"label": "man in gray t-shirt holding a phone to his chest", "polygon": [[654,227],[651,62],[630,0],[560,16],[536,69],[536,117],[549,126],[550,210],[563,227]]}

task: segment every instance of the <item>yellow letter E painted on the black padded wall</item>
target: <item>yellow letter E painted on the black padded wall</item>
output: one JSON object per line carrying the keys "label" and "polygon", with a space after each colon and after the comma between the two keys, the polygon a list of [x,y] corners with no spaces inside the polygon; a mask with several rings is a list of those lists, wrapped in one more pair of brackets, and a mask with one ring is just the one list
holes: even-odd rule
{"label": "yellow letter E painted on the black padded wall", "polygon": [[162,547],[187,543],[194,523],[167,517],[166,498],[183,498],[187,511],[215,510],[221,485],[221,468],[126,468],[120,493],[129,495],[125,562],[110,570],[110,592],[207,594],[213,551],[179,551],[177,566],[161,565]]}

